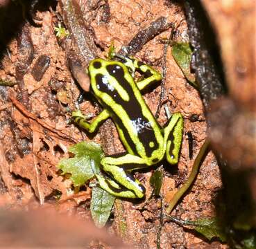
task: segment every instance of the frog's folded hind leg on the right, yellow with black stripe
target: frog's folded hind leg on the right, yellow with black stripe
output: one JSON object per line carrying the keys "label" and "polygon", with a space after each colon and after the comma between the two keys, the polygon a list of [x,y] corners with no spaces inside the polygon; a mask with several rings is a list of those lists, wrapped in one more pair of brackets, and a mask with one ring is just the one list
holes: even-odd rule
{"label": "frog's folded hind leg on the right, yellow with black stripe", "polygon": [[178,163],[182,144],[183,118],[181,113],[173,113],[164,128],[164,145],[166,146],[167,161]]}

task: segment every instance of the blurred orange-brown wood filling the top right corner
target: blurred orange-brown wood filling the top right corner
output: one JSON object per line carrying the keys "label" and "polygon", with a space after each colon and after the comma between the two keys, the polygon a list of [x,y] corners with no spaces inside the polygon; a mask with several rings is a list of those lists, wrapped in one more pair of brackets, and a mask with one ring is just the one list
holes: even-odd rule
{"label": "blurred orange-brown wood filling the top right corner", "polygon": [[230,97],[256,111],[255,15],[250,0],[202,0],[214,25]]}

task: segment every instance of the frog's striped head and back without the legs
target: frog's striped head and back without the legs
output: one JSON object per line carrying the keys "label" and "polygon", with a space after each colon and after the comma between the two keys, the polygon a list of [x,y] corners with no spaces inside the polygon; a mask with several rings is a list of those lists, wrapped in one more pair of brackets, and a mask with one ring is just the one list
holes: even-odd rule
{"label": "frog's striped head and back without the legs", "polygon": [[160,127],[128,68],[121,62],[94,59],[89,75],[94,95],[110,112],[128,152],[149,158],[161,149]]}

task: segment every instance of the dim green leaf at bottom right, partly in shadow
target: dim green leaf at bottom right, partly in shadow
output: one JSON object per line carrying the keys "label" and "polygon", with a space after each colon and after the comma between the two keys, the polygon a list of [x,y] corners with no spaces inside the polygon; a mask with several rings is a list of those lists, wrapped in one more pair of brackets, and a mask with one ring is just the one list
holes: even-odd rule
{"label": "dim green leaf at bottom right, partly in shadow", "polygon": [[209,240],[214,237],[219,238],[222,242],[227,240],[221,223],[215,217],[210,219],[198,219],[193,222],[190,221],[189,225],[194,225],[194,229]]}

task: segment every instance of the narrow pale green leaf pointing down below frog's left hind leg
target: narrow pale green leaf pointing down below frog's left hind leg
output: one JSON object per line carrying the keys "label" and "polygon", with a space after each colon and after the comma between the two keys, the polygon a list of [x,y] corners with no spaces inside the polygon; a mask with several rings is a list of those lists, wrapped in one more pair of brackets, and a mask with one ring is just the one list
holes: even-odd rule
{"label": "narrow pale green leaf pointing down below frog's left hind leg", "polygon": [[90,210],[92,219],[98,228],[103,228],[105,223],[108,221],[114,200],[114,196],[100,187],[94,187],[92,189]]}

